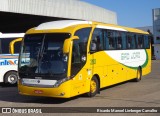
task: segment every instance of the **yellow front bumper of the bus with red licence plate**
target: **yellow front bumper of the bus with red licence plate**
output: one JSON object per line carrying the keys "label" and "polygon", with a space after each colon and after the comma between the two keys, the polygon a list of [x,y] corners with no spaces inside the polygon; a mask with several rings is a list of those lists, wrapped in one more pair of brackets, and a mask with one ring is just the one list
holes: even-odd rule
{"label": "yellow front bumper of the bus with red licence plate", "polygon": [[18,81],[18,91],[21,95],[30,95],[30,96],[45,96],[45,97],[55,97],[55,98],[70,98],[70,86],[69,81],[62,83],[59,87],[32,87],[22,85]]}

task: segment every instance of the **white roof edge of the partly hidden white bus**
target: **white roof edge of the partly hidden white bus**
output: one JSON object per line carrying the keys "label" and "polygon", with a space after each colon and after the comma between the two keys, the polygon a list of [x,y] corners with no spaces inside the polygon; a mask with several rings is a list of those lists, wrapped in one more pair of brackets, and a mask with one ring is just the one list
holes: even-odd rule
{"label": "white roof edge of the partly hidden white bus", "polygon": [[0,38],[18,38],[18,37],[24,37],[25,33],[0,33]]}

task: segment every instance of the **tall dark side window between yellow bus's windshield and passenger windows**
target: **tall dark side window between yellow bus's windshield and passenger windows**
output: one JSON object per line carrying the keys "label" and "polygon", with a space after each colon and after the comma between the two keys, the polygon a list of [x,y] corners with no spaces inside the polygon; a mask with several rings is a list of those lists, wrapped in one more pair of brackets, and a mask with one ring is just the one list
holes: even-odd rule
{"label": "tall dark side window between yellow bus's windshield and passenger windows", "polygon": [[77,74],[86,62],[87,44],[91,28],[79,29],[75,32],[75,36],[78,36],[78,40],[73,41],[72,47],[72,70],[71,74]]}

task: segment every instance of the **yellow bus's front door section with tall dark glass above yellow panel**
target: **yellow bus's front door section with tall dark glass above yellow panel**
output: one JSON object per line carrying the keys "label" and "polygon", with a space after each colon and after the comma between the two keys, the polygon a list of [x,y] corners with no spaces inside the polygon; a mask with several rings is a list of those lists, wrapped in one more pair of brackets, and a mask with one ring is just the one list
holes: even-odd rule
{"label": "yellow bus's front door section with tall dark glass above yellow panel", "polygon": [[75,32],[78,40],[73,40],[71,55],[71,96],[88,92],[86,80],[89,78],[87,44],[91,28],[82,28]]}

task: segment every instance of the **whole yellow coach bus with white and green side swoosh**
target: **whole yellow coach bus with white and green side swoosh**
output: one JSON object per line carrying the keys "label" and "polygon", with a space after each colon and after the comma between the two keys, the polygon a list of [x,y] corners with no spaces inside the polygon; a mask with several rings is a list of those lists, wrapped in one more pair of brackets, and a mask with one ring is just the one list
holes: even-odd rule
{"label": "whole yellow coach bus with white and green side swoosh", "polygon": [[150,71],[147,32],[93,21],[53,21],[26,32],[18,90],[31,96],[92,97],[101,88],[140,81]]}

